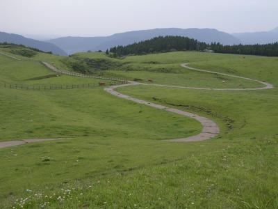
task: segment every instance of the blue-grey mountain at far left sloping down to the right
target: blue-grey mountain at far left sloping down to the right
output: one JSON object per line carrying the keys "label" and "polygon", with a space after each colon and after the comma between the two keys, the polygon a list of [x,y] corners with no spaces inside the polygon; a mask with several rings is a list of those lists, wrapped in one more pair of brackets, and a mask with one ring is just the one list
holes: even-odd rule
{"label": "blue-grey mountain at far left sloping down to the right", "polygon": [[52,52],[53,54],[67,56],[67,53],[64,52],[63,49],[60,49],[52,43],[25,38],[24,36],[13,33],[0,32],[0,42],[10,42],[18,45],[25,45],[27,47],[40,49],[43,52]]}

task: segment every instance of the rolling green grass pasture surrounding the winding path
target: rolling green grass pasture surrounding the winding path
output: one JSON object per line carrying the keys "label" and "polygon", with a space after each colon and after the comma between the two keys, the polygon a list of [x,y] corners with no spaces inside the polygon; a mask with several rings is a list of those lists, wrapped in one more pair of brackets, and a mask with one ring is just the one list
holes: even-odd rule
{"label": "rolling green grass pasture surrounding the winding path", "polygon": [[[76,56],[107,58],[96,53]],[[67,58],[37,54],[33,59],[62,66],[60,59]],[[180,86],[260,86],[179,67],[190,63],[278,85],[277,58],[174,52],[107,59],[120,64],[104,74],[142,82],[151,77],[158,84]],[[1,82],[83,80],[61,76],[30,81],[26,79],[52,72],[4,56],[0,63]],[[190,118],[114,98],[99,87],[0,88],[1,141],[70,138],[1,149],[0,208],[278,207],[277,88],[219,92],[129,86],[118,91],[211,118],[220,126],[220,135],[187,144],[165,142],[162,139],[195,135],[202,127]]]}

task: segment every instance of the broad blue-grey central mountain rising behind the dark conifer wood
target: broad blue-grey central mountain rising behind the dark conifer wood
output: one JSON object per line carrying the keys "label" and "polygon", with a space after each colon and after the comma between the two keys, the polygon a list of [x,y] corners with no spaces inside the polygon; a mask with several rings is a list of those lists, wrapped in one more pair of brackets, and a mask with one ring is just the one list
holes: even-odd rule
{"label": "broad blue-grey central mountain rising behind the dark conifer wood", "polygon": [[195,38],[201,42],[220,42],[223,45],[239,44],[240,40],[215,29],[151,29],[144,31],[129,31],[116,33],[106,37],[64,37],[49,40],[68,54],[86,52],[88,50],[106,50],[117,45],[130,45],[134,42],[148,40],[157,36],[184,36]]}

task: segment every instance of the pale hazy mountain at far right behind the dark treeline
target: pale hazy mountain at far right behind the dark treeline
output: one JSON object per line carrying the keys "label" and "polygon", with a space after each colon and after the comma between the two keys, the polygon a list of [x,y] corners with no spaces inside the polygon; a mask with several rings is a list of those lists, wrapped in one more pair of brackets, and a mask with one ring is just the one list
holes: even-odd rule
{"label": "pale hazy mountain at far right behind the dark treeline", "polygon": [[232,35],[240,39],[245,45],[268,44],[278,41],[278,27],[271,31],[254,33],[233,33]]}

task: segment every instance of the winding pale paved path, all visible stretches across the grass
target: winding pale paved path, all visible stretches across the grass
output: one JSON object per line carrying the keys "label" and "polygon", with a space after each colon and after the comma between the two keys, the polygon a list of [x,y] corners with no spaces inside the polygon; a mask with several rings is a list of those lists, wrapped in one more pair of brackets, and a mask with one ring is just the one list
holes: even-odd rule
{"label": "winding pale paved path, all visible stretches across the grass", "polygon": [[[15,56],[10,56],[9,54],[6,53],[1,53],[2,55],[5,56],[9,56],[10,58],[13,59],[17,59]],[[17,59],[20,60],[20,59]],[[72,72],[67,72],[65,70],[63,70],[63,72],[61,72],[60,70],[58,70],[57,68],[55,68],[54,66],[50,65],[49,63],[46,62],[42,62],[47,68],[49,68],[50,70],[54,70],[56,72],[60,72],[66,75],[73,75]],[[194,118],[196,121],[199,121],[199,123],[202,124],[203,129],[202,132],[200,134],[197,134],[195,136],[192,137],[186,137],[186,138],[181,138],[181,139],[168,139],[167,141],[174,141],[174,142],[189,142],[189,141],[204,141],[206,139],[211,139],[213,137],[215,137],[216,135],[219,134],[220,129],[218,127],[218,125],[216,123],[214,123],[213,121],[211,121],[208,118],[202,117],[202,116],[198,116],[197,114],[192,114],[190,112],[187,111],[181,111],[179,109],[174,109],[174,108],[170,108],[170,107],[165,107],[163,105],[160,104],[154,104],[152,102],[147,102],[145,100],[140,100],[137,98],[131,98],[129,95],[124,95],[122,93],[118,93],[117,91],[115,91],[115,88],[118,87],[124,87],[124,86],[135,86],[135,85],[148,85],[148,86],[163,86],[163,87],[170,87],[170,88],[188,88],[188,89],[199,89],[199,90],[215,90],[215,91],[254,91],[254,90],[265,90],[265,89],[271,89],[274,88],[272,86],[272,84],[268,84],[267,82],[261,82],[259,80],[256,79],[250,79],[247,77],[240,77],[237,75],[229,75],[229,74],[225,74],[225,73],[221,73],[221,72],[213,72],[210,70],[200,70],[197,68],[192,68],[189,67],[188,64],[181,64],[181,67],[183,68],[187,68],[188,70],[196,70],[199,72],[208,72],[208,73],[213,73],[213,74],[217,74],[217,75],[224,75],[224,76],[229,76],[229,77],[236,77],[236,78],[240,78],[240,79],[246,79],[246,80],[250,80],[250,81],[254,81],[254,82],[259,82],[260,84],[263,84],[263,87],[258,87],[258,88],[199,88],[199,87],[186,87],[186,86],[170,86],[170,85],[162,85],[162,84],[142,84],[142,83],[138,83],[138,82],[128,82],[128,84],[122,84],[122,85],[117,85],[117,86],[110,86],[107,88],[104,88],[104,90],[108,93],[110,93],[111,95],[115,95],[118,98],[123,98],[125,100],[130,100],[132,102],[136,102],[138,104],[145,104],[149,107],[154,107],[156,109],[162,109],[164,111],[170,111],[172,113],[175,114],[179,114],[182,116],[187,116],[190,118]],[[74,76],[79,76],[80,75],[74,75]],[[38,141],[52,141],[52,140],[57,140],[57,139],[24,139],[21,141],[5,141],[5,142],[1,142],[0,143],[0,148],[3,147],[8,147],[8,146],[17,146],[20,144],[24,144],[24,143],[31,143],[31,142],[38,142]]]}

